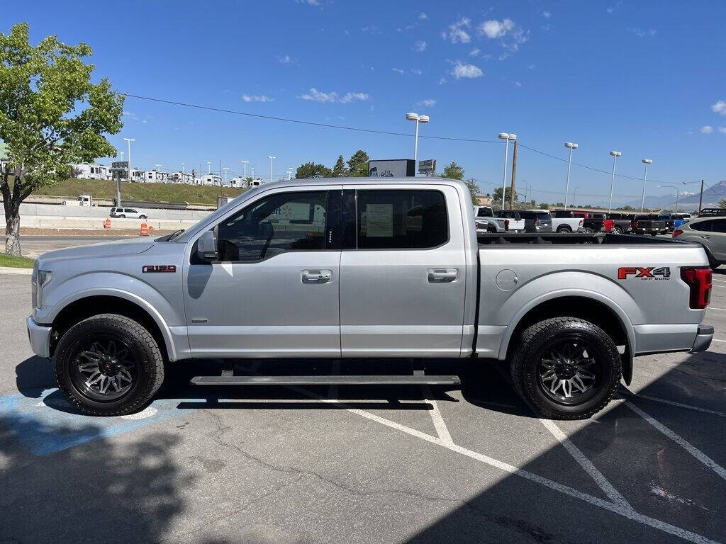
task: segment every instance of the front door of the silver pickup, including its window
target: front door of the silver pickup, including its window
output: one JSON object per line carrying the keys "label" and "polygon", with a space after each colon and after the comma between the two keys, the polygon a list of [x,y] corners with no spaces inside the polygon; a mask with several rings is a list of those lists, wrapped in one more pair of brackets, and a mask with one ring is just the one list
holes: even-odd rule
{"label": "front door of the silver pickup, including its window", "polygon": [[191,247],[194,357],[340,356],[340,189],[272,189],[214,227],[218,261]]}

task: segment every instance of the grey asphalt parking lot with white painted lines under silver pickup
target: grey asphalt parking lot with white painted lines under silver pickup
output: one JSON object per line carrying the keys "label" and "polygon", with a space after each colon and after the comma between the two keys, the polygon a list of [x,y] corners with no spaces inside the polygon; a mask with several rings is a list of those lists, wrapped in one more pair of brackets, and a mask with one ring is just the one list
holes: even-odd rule
{"label": "grey asphalt parking lot with white painted lines under silver pickup", "polygon": [[461,391],[195,389],[205,363],[184,362],[142,413],[81,416],[30,352],[28,276],[0,276],[0,543],[724,541],[714,277],[709,351],[637,358],[605,411],[552,422],[486,362],[461,368]]}

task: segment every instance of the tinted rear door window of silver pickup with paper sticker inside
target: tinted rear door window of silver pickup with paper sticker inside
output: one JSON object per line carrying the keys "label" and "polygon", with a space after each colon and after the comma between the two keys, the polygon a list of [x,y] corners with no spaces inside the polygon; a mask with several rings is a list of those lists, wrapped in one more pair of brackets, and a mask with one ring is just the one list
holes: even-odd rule
{"label": "tinted rear door window of silver pickup with paper sticker inside", "polygon": [[359,250],[425,250],[449,240],[441,191],[357,191]]}

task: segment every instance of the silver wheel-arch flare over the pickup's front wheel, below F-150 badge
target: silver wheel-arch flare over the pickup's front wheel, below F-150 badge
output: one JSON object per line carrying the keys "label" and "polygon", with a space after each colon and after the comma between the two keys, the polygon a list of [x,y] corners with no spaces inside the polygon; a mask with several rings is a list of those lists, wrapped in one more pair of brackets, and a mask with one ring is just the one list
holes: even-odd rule
{"label": "silver wheel-arch flare over the pickup's front wheel, below F-150 badge", "polygon": [[[39,323],[52,323],[63,308],[72,302],[96,296],[118,297],[134,302],[146,310],[161,331],[169,359],[179,358],[176,345],[186,330],[183,316],[178,315],[179,313],[158,289],[128,274],[95,272],[74,276],[48,292],[43,309],[36,310],[36,320]],[[107,310],[113,313],[113,308]],[[186,351],[183,343],[181,346],[181,349]]]}

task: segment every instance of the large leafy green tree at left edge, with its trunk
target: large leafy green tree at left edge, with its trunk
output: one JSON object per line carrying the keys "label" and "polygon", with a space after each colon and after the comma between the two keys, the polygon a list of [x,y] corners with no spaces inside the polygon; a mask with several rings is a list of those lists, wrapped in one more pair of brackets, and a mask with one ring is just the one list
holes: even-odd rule
{"label": "large leafy green tree at left edge, with its trunk", "polygon": [[1,172],[5,252],[20,255],[20,202],[41,186],[70,177],[72,162],[115,155],[105,134],[121,131],[123,96],[107,78],[91,83],[86,44],[47,36],[33,47],[27,23],[0,33],[0,139],[8,164]]}

